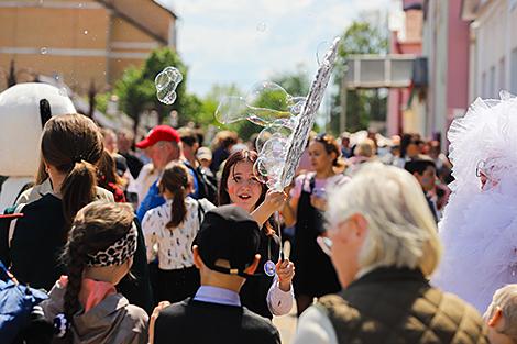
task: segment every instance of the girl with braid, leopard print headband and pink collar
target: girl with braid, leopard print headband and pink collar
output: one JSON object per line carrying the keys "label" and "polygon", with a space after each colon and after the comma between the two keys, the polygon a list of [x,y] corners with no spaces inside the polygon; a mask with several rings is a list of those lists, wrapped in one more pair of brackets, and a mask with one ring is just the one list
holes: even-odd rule
{"label": "girl with braid, leopard print headband and pink collar", "polygon": [[131,206],[97,201],[77,213],[62,276],[42,304],[55,342],[147,343],[147,314],[116,286],[129,274],[138,231]]}

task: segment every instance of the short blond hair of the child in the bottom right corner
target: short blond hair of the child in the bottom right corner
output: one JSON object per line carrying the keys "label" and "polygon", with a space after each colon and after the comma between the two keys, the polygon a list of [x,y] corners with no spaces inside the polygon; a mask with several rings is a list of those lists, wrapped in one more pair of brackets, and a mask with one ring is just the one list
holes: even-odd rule
{"label": "short blond hair of the child in the bottom right corner", "polygon": [[504,319],[504,328],[498,332],[517,342],[517,285],[507,285],[496,290],[483,317],[485,321],[490,320],[497,309]]}

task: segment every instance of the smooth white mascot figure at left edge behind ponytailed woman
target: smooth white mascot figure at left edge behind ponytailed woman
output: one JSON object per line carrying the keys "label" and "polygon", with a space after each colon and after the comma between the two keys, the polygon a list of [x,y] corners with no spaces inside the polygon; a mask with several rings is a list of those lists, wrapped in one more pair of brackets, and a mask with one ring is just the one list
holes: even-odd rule
{"label": "smooth white mascot figure at left edge behind ponytailed woman", "polygon": [[0,93],[0,176],[9,177],[0,190],[0,213],[34,181],[44,123],[75,112],[72,100],[47,84],[19,84]]}

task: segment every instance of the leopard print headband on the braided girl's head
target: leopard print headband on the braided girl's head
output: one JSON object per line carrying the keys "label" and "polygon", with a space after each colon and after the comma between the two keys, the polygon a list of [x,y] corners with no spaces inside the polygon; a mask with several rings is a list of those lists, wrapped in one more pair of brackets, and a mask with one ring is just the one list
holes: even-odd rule
{"label": "leopard print headband on the braided girl's head", "polygon": [[138,236],[139,232],[133,222],[131,230],[129,230],[125,236],[114,242],[105,251],[99,251],[95,255],[88,255],[87,266],[102,267],[124,264],[136,252]]}

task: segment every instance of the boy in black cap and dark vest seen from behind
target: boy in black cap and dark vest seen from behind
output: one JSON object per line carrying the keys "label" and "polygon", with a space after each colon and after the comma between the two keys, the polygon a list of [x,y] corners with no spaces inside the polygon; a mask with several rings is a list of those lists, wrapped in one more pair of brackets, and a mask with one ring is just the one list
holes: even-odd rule
{"label": "boy in black cap and dark vest seen from behind", "polygon": [[162,310],[154,343],[279,344],[272,322],[241,306],[239,291],[258,265],[258,224],[243,209],[207,212],[194,245],[201,287],[193,299]]}

